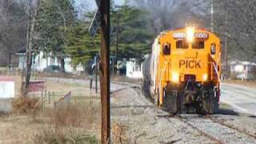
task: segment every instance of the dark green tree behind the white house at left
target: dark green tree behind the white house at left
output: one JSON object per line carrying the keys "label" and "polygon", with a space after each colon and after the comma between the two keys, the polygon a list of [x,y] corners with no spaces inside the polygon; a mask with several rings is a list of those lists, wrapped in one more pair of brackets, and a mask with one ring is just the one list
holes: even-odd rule
{"label": "dark green tree behind the white house at left", "polygon": [[67,27],[76,21],[73,0],[42,0],[38,13],[39,45],[46,53],[52,52],[61,59],[64,70],[64,48]]}

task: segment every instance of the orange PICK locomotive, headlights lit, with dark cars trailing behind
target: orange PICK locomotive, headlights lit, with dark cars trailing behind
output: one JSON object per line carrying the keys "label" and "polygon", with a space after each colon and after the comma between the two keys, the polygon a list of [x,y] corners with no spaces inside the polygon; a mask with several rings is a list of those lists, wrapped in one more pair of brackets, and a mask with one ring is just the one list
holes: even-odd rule
{"label": "orange PICK locomotive, headlights lit, with dark cars trailing behind", "polygon": [[170,113],[207,113],[218,109],[220,39],[186,27],[164,31],[143,64],[142,90]]}

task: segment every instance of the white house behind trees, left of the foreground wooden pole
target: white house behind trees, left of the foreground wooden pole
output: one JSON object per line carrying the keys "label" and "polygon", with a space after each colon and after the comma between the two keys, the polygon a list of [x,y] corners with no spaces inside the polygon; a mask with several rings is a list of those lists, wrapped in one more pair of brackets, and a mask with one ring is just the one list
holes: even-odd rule
{"label": "white house behind trees, left of the foreground wooden pole", "polygon": [[[17,53],[18,55],[18,69],[24,70],[26,68],[26,50],[20,50]],[[71,58],[64,58],[64,68],[68,73],[74,72],[74,66],[71,64]],[[58,61],[56,56],[52,54],[47,54],[47,56],[40,51],[39,54],[36,54],[32,58],[32,70],[43,71],[47,66],[61,66],[61,62]],[[76,67],[77,69],[77,67]],[[78,65],[78,70],[81,70],[81,66]]]}

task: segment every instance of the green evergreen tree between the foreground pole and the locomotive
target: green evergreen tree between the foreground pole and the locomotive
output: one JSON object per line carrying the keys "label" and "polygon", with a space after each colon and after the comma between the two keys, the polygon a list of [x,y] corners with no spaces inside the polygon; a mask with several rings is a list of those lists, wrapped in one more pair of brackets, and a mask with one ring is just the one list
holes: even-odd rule
{"label": "green evergreen tree between the foreground pole and the locomotive", "polygon": [[[119,19],[119,44],[118,58],[142,59],[144,54],[150,52],[150,44],[154,38],[153,30],[150,28],[150,19],[146,11],[132,6],[121,6],[114,11]],[[117,30],[116,17],[112,14],[111,27]],[[112,36],[114,40],[114,36]],[[114,52],[113,41],[111,51]]]}

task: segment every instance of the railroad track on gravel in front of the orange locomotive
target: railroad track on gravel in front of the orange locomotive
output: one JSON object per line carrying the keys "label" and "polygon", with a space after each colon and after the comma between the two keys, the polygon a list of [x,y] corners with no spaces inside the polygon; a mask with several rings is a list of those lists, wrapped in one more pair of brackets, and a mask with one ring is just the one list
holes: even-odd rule
{"label": "railroad track on gravel in front of the orange locomotive", "polygon": [[256,136],[245,130],[230,126],[214,119],[210,115],[174,115],[181,122],[186,123],[214,143],[256,143]]}

